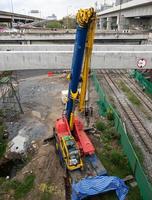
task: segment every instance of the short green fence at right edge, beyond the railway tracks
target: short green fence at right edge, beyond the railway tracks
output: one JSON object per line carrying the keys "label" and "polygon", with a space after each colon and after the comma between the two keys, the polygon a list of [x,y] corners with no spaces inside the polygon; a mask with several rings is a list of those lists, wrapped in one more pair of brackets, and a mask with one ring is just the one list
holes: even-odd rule
{"label": "short green fence at right edge, beyond the railway tracks", "polygon": [[148,81],[142,73],[137,70],[133,70],[132,75],[139,82],[140,86],[145,88],[146,92],[152,94],[152,83]]}

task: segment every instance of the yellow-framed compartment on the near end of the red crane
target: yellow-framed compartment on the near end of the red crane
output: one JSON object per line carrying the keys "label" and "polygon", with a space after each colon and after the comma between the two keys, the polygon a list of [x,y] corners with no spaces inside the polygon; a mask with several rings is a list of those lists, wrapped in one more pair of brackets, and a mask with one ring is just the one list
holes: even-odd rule
{"label": "yellow-framed compartment on the near end of the red crane", "polygon": [[80,151],[73,136],[63,136],[61,139],[61,148],[64,161],[69,170],[75,170],[83,167]]}

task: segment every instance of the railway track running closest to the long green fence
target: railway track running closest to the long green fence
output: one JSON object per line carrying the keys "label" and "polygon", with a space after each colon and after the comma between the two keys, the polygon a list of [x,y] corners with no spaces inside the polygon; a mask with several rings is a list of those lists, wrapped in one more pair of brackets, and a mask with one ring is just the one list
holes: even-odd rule
{"label": "railway track running closest to the long green fence", "polygon": [[112,80],[112,78],[109,76],[109,74],[104,71],[103,77],[106,80],[106,82],[108,83],[109,87],[112,89],[124,115],[127,117],[127,119],[129,119],[131,125],[133,126],[136,133],[138,134],[138,137],[141,139],[142,143],[144,144],[145,150],[148,151],[149,154],[152,154],[152,145],[151,145],[152,144],[152,135],[151,135],[151,133],[145,127],[143,122],[139,119],[139,117],[134,112],[134,110],[129,105],[129,103],[124,99],[124,96],[122,95],[120,89],[115,84],[115,82]]}

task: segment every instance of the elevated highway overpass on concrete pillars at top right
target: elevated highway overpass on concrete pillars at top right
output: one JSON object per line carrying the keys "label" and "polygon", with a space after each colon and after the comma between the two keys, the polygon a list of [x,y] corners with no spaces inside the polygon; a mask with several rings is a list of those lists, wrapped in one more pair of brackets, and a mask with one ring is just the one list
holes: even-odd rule
{"label": "elevated highway overpass on concrete pillars at top right", "polygon": [[98,19],[100,29],[152,29],[152,1],[132,0],[99,12]]}

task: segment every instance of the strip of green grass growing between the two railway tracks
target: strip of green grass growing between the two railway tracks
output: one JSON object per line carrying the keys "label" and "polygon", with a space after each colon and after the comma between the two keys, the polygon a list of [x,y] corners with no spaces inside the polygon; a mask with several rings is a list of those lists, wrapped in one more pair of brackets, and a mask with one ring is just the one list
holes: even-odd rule
{"label": "strip of green grass growing between the two railway tracks", "polygon": [[123,81],[120,81],[118,83],[121,90],[126,94],[128,99],[134,104],[134,105],[141,105],[140,100],[134,95],[134,93],[126,86],[126,84]]}

